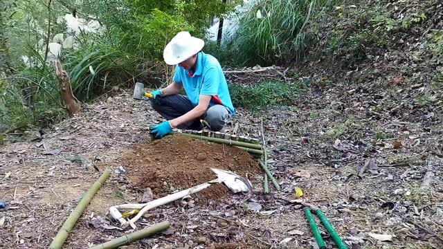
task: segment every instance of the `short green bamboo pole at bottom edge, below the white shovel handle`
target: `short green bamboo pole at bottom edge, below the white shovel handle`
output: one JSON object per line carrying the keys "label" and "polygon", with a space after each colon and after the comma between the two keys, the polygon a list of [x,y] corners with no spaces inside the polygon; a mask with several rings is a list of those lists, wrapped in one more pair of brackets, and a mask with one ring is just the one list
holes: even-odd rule
{"label": "short green bamboo pole at bottom edge, below the white shovel handle", "polygon": [[138,230],[137,232],[132,232],[130,234],[123,235],[122,237],[118,237],[118,238],[113,239],[111,241],[101,243],[100,245],[90,247],[89,249],[119,248],[120,246],[125,246],[125,245],[132,243],[134,241],[138,241],[140,239],[144,239],[146,237],[149,237],[152,234],[156,234],[157,232],[168,230],[169,226],[170,226],[169,221],[163,221],[161,223],[156,223],[155,225],[151,225],[150,227],[143,228],[142,230]]}

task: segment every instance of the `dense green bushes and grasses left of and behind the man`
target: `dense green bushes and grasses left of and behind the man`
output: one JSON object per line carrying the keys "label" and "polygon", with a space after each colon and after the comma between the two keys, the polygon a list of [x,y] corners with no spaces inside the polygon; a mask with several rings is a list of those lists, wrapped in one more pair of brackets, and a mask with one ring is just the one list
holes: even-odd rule
{"label": "dense green bushes and grasses left of and behind the man", "polygon": [[[7,76],[0,80],[3,131],[62,117],[56,55],[48,53],[48,44],[61,48],[76,97],[92,100],[103,89],[152,73],[147,68],[163,60],[163,48],[179,31],[203,35],[210,17],[230,10],[219,0],[5,1],[0,4],[0,75]],[[74,31],[61,21],[66,13],[100,23],[102,30]],[[70,37],[73,47],[55,37]],[[8,70],[1,67],[4,58]]]}

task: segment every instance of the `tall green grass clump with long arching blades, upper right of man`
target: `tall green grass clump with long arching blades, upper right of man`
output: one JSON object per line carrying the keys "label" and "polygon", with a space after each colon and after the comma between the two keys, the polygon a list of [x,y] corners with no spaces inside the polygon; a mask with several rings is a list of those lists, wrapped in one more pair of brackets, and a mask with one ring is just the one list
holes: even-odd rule
{"label": "tall green grass clump with long arching blades, upper right of man", "polygon": [[237,64],[266,66],[300,58],[317,1],[259,1],[239,20],[239,29],[229,44],[238,55]]}

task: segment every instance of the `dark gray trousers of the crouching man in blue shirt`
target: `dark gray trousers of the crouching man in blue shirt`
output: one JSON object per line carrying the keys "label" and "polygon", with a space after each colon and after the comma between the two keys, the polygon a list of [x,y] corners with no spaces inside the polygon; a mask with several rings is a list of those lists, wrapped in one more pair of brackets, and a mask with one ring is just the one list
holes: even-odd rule
{"label": "dark gray trousers of the crouching man in blue shirt", "polygon": [[[155,100],[150,100],[152,108],[160,113],[166,120],[172,120],[178,118],[188,113],[190,110],[194,109],[192,103],[188,97],[183,95],[169,95],[165,97],[156,98]],[[204,119],[208,122],[210,129],[212,131],[220,131],[228,119],[230,118],[230,113],[226,107],[221,104],[215,104],[208,108],[208,111],[200,119]],[[177,128],[179,129],[201,129],[200,119],[193,120],[186,124],[180,124]]]}

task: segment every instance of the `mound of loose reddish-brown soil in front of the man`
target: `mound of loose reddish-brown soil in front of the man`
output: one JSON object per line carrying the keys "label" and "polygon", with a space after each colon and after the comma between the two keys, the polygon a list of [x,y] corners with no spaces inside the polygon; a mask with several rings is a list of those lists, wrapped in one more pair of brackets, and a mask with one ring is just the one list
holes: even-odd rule
{"label": "mound of loose reddish-brown soil in front of the man", "polygon": [[[134,186],[150,187],[156,198],[215,179],[210,168],[230,170],[250,180],[260,172],[254,158],[242,149],[179,135],[134,145],[123,151],[122,161]],[[222,199],[229,191],[217,185],[198,196],[200,200]]]}

